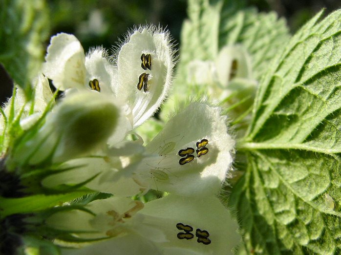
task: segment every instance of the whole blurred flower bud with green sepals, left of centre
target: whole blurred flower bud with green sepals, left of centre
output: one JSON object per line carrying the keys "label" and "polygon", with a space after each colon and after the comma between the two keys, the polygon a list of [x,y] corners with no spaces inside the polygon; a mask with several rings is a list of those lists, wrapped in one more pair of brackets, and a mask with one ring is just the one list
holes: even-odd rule
{"label": "whole blurred flower bud with green sepals, left of centre", "polygon": [[11,153],[13,166],[64,162],[95,150],[113,133],[118,110],[112,99],[95,91],[70,92],[32,127]]}

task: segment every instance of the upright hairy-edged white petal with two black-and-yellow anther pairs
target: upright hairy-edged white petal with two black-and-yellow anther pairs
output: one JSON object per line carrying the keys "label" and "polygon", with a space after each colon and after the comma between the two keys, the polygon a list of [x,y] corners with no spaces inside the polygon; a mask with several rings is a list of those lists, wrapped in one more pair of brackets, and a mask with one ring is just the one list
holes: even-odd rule
{"label": "upright hairy-edged white petal with two black-and-yellow anther pairs", "polygon": [[[116,95],[127,102],[133,115],[133,127],[148,119],[166,97],[173,67],[168,37],[166,32],[151,31],[149,28],[137,30],[118,54],[119,84]],[[142,54],[150,54],[151,70],[141,67]],[[137,88],[143,73],[149,74],[147,92]]]}

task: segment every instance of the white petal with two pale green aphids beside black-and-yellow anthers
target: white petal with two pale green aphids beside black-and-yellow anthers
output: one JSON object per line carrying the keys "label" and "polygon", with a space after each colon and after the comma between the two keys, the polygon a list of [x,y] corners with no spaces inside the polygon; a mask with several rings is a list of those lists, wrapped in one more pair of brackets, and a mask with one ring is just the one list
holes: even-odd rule
{"label": "white petal with two pale green aphids beside black-and-yellow anthers", "polygon": [[[208,144],[198,148],[203,139]],[[154,156],[143,159],[134,178],[173,194],[217,194],[231,170],[233,148],[234,140],[220,109],[191,103],[147,145],[146,151]],[[180,150],[187,149],[192,153],[180,156]]]}

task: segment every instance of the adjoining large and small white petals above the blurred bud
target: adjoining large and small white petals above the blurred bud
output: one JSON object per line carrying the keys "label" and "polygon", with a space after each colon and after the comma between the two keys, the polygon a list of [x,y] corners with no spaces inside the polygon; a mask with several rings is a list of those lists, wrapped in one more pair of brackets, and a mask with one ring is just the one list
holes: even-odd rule
{"label": "adjoining large and small white petals above the blurred bud", "polygon": [[51,37],[45,60],[43,74],[60,90],[92,89],[90,82],[97,79],[99,87],[94,87],[95,90],[113,93],[114,69],[107,60],[107,52],[101,47],[92,49],[85,56],[74,35],[60,33]]}

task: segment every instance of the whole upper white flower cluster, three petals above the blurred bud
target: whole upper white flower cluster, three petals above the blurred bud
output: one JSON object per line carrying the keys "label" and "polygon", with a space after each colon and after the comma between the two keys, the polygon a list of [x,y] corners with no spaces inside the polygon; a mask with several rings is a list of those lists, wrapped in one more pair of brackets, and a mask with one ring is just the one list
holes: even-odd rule
{"label": "whole upper white flower cluster, three petals above the blurred bud", "polygon": [[61,33],[51,38],[43,73],[61,90],[92,89],[122,105],[126,119],[120,122],[127,127],[110,139],[113,144],[147,120],[165,99],[174,65],[169,37],[161,29],[140,27],[108,57],[103,48],[85,56],[75,36]]}

